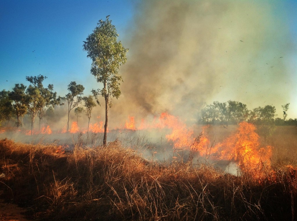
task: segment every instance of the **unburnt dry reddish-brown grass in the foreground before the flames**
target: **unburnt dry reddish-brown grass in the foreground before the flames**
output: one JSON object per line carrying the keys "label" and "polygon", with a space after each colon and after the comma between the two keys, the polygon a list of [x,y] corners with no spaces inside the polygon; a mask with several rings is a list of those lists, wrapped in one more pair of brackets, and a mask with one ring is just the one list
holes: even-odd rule
{"label": "unburnt dry reddish-brown grass in the foreground before the flames", "polygon": [[297,170],[227,174],[179,160],[160,166],[119,141],[63,152],[0,141],[0,198],[34,220],[296,220]]}

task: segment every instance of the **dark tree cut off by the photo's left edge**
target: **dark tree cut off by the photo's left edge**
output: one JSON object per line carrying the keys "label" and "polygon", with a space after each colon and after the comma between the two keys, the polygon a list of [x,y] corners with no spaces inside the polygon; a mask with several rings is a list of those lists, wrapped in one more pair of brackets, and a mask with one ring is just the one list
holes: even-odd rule
{"label": "dark tree cut off by the photo's left edge", "polygon": [[5,89],[0,92],[0,126],[3,121],[9,121],[12,116],[12,100],[9,98],[10,91]]}

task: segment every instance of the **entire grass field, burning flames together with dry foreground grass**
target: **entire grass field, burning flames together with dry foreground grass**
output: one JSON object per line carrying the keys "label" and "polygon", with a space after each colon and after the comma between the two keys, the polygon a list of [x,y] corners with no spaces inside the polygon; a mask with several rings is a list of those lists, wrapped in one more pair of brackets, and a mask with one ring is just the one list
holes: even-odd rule
{"label": "entire grass field, burning flames together with dry foreground grass", "polygon": [[266,141],[252,123],[224,127],[162,113],[139,126],[127,117],[108,145],[77,124],[41,129],[36,144],[4,139],[1,198],[42,220],[293,220],[296,127],[277,126]]}

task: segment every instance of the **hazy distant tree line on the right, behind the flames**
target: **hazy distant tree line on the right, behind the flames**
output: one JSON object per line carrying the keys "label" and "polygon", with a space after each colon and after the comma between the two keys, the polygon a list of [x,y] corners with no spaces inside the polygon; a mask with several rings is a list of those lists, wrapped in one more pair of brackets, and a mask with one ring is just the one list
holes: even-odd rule
{"label": "hazy distant tree line on the right, behind the flames", "polygon": [[296,126],[297,118],[286,120],[289,105],[290,103],[282,105],[284,113],[283,118],[275,118],[276,108],[272,105],[248,110],[246,104],[238,101],[228,100],[223,103],[214,101],[212,104],[206,105],[201,109],[198,123],[232,125],[238,124],[241,121],[247,121],[256,125],[267,124],[269,122],[269,124],[274,124],[276,126]]}

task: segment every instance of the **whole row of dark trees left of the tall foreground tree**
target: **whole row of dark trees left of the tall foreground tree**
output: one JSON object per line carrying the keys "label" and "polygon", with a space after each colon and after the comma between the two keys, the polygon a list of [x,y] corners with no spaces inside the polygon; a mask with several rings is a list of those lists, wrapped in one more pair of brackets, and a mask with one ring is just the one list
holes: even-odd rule
{"label": "whole row of dark trees left of the tall foreground tree", "polygon": [[[49,84],[47,87],[43,86],[43,81],[46,76],[27,76],[26,80],[30,82],[27,87],[24,84],[15,84],[15,87],[11,91],[5,89],[0,91],[0,126],[6,123],[6,126],[10,122],[14,122],[16,127],[23,127],[23,118],[26,116],[31,121],[31,134],[34,129],[34,122],[36,117],[39,119],[39,129],[41,120],[44,116],[54,118],[56,114],[56,106],[68,104],[68,121],[67,131],[69,130],[69,114],[70,111],[75,108],[75,115],[81,116],[81,113],[85,111],[83,107],[78,107],[84,101],[84,107],[86,108],[86,116],[91,118],[93,107],[96,103],[92,96],[81,97],[83,85],[76,84],[75,81],[71,81],[68,85],[69,93],[64,97],[57,96],[57,92],[53,91],[53,84]],[[64,115],[64,114],[63,114]]]}

